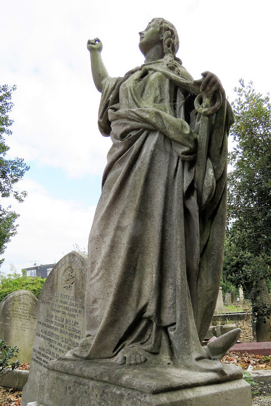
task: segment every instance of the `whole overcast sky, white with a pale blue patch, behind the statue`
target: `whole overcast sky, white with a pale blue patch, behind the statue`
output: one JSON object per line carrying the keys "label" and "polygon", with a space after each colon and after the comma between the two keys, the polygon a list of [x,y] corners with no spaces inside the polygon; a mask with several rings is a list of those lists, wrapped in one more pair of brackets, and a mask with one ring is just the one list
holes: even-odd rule
{"label": "whole overcast sky, white with a pale blue patch, behind the statue", "polygon": [[[194,79],[206,70],[221,80],[229,100],[240,78],[263,94],[271,89],[270,0],[9,0],[1,4],[1,83],[13,94],[9,157],[30,165],[12,202],[18,234],[8,244],[1,272],[57,262],[87,248],[111,141],[97,128],[88,39],[104,45],[110,76],[144,62],[138,32],[154,17],[177,28],[178,56]],[[4,204],[4,202],[3,202]]]}

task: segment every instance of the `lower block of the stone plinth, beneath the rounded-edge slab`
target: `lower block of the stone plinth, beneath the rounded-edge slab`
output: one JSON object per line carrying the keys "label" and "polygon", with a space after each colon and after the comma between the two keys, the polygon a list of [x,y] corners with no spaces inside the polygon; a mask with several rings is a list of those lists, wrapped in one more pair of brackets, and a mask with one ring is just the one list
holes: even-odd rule
{"label": "lower block of the stone plinth, beneath the rounded-edge slab", "polygon": [[251,406],[250,385],[243,379],[162,393],[146,393],[49,371],[39,399],[28,406]]}

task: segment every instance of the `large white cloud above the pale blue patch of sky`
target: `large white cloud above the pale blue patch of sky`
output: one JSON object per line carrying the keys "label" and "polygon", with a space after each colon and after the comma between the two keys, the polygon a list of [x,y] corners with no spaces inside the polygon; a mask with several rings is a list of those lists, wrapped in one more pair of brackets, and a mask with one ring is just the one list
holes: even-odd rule
{"label": "large white cloud above the pale blue patch of sky", "polygon": [[167,8],[162,1],[141,0],[131,18],[124,0],[105,1],[103,12],[86,0],[5,2],[3,13],[12,18],[3,19],[0,28],[7,39],[1,44],[2,78],[18,86],[11,152],[73,177],[101,174],[111,142],[97,129],[100,95],[92,83],[87,39],[98,36],[110,75],[123,75],[143,63],[138,31],[154,16],[175,23],[179,56],[195,78],[205,70],[216,73],[230,99],[241,77],[269,90],[268,10],[269,0],[219,6],[197,0]]}

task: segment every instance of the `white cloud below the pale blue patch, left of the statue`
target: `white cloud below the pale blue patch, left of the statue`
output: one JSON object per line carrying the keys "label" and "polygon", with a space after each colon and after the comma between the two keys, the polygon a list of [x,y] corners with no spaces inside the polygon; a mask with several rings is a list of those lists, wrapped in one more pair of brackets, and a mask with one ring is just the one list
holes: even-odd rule
{"label": "white cloud below the pale blue patch, left of the statue", "polygon": [[87,249],[88,234],[95,206],[78,207],[76,200],[55,199],[38,183],[24,181],[28,196],[23,204],[13,204],[20,213],[18,234],[8,244],[1,272],[8,273],[10,263],[17,270],[32,263],[52,263],[78,244]]}

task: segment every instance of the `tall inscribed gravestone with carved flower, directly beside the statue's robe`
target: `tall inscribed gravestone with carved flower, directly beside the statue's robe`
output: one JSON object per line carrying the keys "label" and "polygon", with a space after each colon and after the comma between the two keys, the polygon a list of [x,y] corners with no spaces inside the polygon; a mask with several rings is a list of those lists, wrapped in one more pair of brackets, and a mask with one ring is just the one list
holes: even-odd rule
{"label": "tall inscribed gravestone with carved flower, directly beside the statue's robe", "polygon": [[27,384],[21,405],[37,400],[48,361],[77,347],[85,335],[87,255],[65,255],[48,276],[37,308],[37,328]]}

